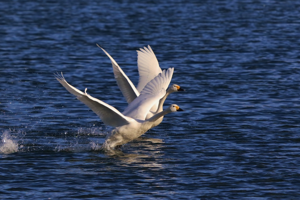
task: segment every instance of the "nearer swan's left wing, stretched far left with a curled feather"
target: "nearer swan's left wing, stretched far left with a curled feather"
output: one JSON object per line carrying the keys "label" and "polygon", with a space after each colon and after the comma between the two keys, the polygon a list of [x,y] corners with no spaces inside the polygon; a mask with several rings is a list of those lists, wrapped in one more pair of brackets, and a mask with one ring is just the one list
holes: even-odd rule
{"label": "nearer swan's left wing, stretched far left with a curled feather", "polygon": [[74,94],[78,100],[94,111],[105,125],[119,127],[129,124],[132,120],[131,118],[122,115],[122,113],[120,113],[113,106],[110,106],[107,103],[88,95],[86,93],[86,88],[85,93],[83,93],[82,91],[68,84],[62,73],[61,76],[59,74],[56,75],[56,79],[67,89],[67,91],[69,91],[71,94]]}

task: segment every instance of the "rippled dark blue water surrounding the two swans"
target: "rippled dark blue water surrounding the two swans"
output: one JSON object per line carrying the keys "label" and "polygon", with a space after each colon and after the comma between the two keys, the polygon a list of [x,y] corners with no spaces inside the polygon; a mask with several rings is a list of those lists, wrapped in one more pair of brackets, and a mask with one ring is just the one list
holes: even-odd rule
{"label": "rippled dark blue water surrounding the two swans", "polygon": [[[300,1],[1,1],[0,199],[299,199]],[[115,154],[54,78],[119,110],[148,44],[170,113]]]}

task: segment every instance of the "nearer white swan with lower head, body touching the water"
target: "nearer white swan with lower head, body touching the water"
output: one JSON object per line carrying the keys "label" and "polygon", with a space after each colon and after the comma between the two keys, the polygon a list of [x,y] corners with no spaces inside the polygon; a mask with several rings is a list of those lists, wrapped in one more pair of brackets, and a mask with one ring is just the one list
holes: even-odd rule
{"label": "nearer white swan with lower head, body touching the water", "polygon": [[[162,71],[162,73],[152,79],[145,86],[139,97],[132,101],[128,106],[131,106],[133,109],[137,109],[137,112],[140,112],[145,118],[150,108],[166,94],[166,90],[162,86],[165,85],[166,82],[170,82],[171,75],[172,73],[170,68],[167,71]],[[134,119],[123,115],[113,106],[91,97],[86,93],[87,88],[85,88],[85,92],[83,93],[68,84],[62,73],[61,76],[57,74],[56,79],[67,89],[67,91],[75,95],[78,100],[95,112],[105,125],[115,128],[108,133],[105,138],[105,142],[102,145],[102,148],[105,149],[114,148],[136,139],[146,133],[155,121],[170,112],[183,111],[176,104],[172,104],[167,109],[153,115],[147,120]]]}

